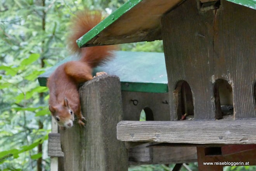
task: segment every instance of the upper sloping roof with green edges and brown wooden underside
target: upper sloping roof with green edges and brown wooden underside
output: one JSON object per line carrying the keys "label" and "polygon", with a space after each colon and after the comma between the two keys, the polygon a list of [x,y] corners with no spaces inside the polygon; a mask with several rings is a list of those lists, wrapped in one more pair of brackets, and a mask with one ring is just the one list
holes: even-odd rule
{"label": "upper sloping roof with green edges and brown wooden underside", "polygon": [[[209,2],[213,0],[201,0]],[[256,0],[228,0],[256,9]],[[79,47],[161,40],[161,17],[183,0],[128,0],[77,40]]]}

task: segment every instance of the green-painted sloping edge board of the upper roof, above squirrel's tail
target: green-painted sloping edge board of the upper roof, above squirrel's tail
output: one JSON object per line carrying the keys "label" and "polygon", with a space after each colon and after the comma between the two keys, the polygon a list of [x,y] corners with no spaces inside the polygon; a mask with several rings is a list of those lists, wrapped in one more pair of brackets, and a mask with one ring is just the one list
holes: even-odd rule
{"label": "green-painted sloping edge board of the upper roof, above squirrel's tail", "polygon": [[125,14],[128,10],[133,8],[135,5],[137,5],[142,0],[128,0],[125,4],[123,4],[119,9],[114,11],[111,15],[106,17],[103,21],[101,21],[99,24],[97,24],[94,28],[92,28],[90,31],[88,31],[85,35],[83,35],[81,38],[76,40],[76,43],[78,44],[78,47],[85,47],[85,43],[95,36],[99,35],[99,33],[107,28],[110,24],[115,22],[119,17],[121,17],[123,14]]}

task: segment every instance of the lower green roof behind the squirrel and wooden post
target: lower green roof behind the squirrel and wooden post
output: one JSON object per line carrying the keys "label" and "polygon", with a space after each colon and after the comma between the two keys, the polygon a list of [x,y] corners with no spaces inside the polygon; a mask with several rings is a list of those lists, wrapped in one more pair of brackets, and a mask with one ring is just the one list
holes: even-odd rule
{"label": "lower green roof behind the squirrel and wooden post", "polygon": [[[57,68],[57,66],[74,60],[69,57],[56,66],[50,68],[38,77],[40,86],[46,86],[47,78]],[[120,78],[122,91],[129,92],[168,92],[168,81],[163,53],[157,52],[116,52],[116,57],[93,70],[104,71]]]}

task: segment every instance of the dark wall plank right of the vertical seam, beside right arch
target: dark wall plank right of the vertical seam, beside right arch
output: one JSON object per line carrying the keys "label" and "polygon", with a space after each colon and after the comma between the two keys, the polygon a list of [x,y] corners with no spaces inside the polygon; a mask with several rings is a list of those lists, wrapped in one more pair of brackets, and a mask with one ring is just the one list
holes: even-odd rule
{"label": "dark wall plank right of the vertical seam, beside right arch", "polygon": [[[256,10],[221,1],[214,24],[214,80],[232,86],[234,117],[256,117]],[[214,81],[213,80],[213,81]]]}

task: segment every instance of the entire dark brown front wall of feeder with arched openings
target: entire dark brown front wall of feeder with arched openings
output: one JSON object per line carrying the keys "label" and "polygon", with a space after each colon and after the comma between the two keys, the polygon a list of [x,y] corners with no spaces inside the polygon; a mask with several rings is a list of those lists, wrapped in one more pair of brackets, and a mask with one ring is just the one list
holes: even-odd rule
{"label": "entire dark brown front wall of feeder with arched openings", "polygon": [[[233,89],[234,119],[256,117],[256,11],[221,0],[219,9],[199,12],[187,0],[162,18],[171,120],[177,120],[178,81],[189,83],[195,119],[221,119],[214,83]],[[217,99],[222,100],[222,99]]]}

